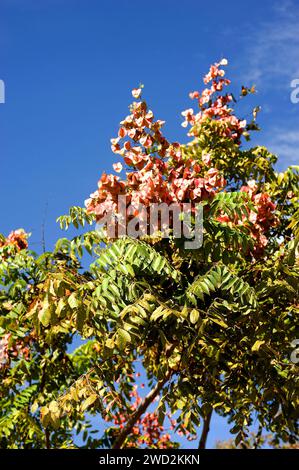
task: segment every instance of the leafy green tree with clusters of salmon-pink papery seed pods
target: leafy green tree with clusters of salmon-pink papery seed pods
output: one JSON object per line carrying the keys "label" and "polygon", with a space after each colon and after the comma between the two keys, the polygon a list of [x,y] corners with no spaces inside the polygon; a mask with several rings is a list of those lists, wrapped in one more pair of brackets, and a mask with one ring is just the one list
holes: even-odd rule
{"label": "leafy green tree with clusters of salmon-pink papery seed pods", "polygon": [[[213,412],[228,417],[236,446],[246,446],[254,419],[276,444],[298,439],[290,355],[299,167],[277,173],[265,147],[243,148],[258,130],[258,109],[249,123],[235,115],[226,65],[212,65],[209,87],[190,93],[199,110],[182,113],[187,144],[169,142],[142,86],[133,90],[112,139],[120,175],[103,174],[86,208],[59,219],[79,229],[105,218],[112,231],[106,224],[62,238],[40,256],[25,232],[1,238],[1,447],[74,447],[74,431],[88,448],[175,446],[161,441],[174,413],[174,430],[190,439],[201,425],[200,448]],[[242,87],[240,97],[253,92]],[[179,220],[189,233],[178,237],[171,216],[166,237],[161,216],[151,223],[155,204],[187,207]],[[200,210],[202,244],[188,248]],[[93,257],[87,271],[84,250]],[[85,343],[70,353],[78,335]],[[149,388],[142,399],[137,361]],[[104,436],[94,435],[90,416],[109,423]]]}

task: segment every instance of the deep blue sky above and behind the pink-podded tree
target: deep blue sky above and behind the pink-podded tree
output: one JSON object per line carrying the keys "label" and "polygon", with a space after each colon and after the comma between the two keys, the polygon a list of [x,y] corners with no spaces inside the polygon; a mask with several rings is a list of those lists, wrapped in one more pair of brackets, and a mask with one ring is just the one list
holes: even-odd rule
{"label": "deep blue sky above and behind the pink-podded tree", "polygon": [[[116,161],[110,138],[130,90],[144,83],[166,135],[184,141],[188,92],[222,57],[235,90],[258,89],[241,109],[262,106],[253,142],[277,152],[279,168],[298,164],[298,24],[297,0],[1,0],[0,231],[24,227],[40,251],[45,219],[51,249],[56,217],[82,205]],[[227,436],[218,421],[210,444]]]}

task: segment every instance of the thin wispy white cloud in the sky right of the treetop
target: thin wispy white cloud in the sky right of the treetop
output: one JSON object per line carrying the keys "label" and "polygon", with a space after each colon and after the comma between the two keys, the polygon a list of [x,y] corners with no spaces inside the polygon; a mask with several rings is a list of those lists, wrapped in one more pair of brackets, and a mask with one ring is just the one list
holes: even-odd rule
{"label": "thin wispy white cloud in the sky right of the treetop", "polygon": [[240,81],[256,85],[262,111],[268,107],[270,128],[260,143],[285,168],[299,164],[299,103],[291,104],[291,81],[299,78],[299,2],[278,0],[271,8],[268,18],[244,29],[238,67]]}

